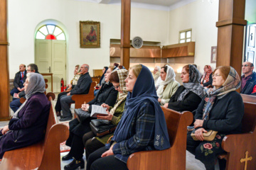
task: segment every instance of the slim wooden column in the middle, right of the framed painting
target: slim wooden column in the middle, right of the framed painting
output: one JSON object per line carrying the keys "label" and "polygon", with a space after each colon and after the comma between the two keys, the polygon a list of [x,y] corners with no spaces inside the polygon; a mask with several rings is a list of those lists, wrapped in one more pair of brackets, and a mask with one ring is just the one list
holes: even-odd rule
{"label": "slim wooden column in the middle, right of the framed painting", "polygon": [[129,69],[131,0],[122,0],[120,64]]}

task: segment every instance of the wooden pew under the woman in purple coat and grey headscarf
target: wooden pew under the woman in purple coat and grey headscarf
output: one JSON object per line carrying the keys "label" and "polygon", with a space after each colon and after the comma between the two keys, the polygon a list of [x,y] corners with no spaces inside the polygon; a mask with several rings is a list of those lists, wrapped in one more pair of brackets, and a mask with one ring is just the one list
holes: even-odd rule
{"label": "wooden pew under the woman in purple coat and grey headscarf", "polygon": [[[52,95],[52,94],[51,94]],[[51,102],[50,113],[43,141],[4,153],[1,170],[57,169],[60,170],[60,143],[68,139],[68,126],[56,123],[57,117]]]}

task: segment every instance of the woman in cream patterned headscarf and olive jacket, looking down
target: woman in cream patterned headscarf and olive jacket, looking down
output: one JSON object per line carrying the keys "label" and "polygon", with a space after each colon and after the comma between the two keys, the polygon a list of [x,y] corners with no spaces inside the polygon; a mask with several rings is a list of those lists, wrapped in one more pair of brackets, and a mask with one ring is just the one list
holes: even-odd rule
{"label": "woman in cream patterned headscarf and olive jacket, looking down", "polygon": [[[124,79],[128,76],[128,71],[126,69],[119,69],[116,72],[112,72],[110,76],[110,81],[114,85],[115,89],[119,92],[116,104],[114,107],[110,107],[107,104],[102,104],[102,107],[105,107],[110,111],[108,116],[98,116],[98,119],[102,120],[110,120],[113,125],[118,125],[120,119],[122,118],[122,113],[124,111],[124,103],[127,99],[128,91],[126,90],[126,84]],[[107,140],[114,134],[114,132],[102,136],[102,137],[95,137],[95,134],[90,131],[85,133],[82,137],[82,141],[85,144],[85,155],[86,159],[88,159],[89,154],[95,152],[95,150],[99,149],[100,147],[104,147],[107,143]],[[92,137],[94,137],[92,139]]]}

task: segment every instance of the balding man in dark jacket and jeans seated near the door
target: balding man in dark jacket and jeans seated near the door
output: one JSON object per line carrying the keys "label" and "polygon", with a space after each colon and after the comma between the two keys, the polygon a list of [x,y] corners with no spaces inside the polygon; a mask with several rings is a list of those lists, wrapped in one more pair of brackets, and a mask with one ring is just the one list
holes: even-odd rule
{"label": "balding man in dark jacket and jeans seated near the door", "polygon": [[60,121],[67,121],[72,119],[72,114],[70,112],[70,103],[74,103],[72,100],[73,94],[88,94],[90,90],[90,84],[92,83],[92,78],[88,73],[89,65],[82,64],[80,67],[80,78],[78,79],[78,84],[72,89],[68,94],[60,96],[60,105],[62,109],[62,118]]}

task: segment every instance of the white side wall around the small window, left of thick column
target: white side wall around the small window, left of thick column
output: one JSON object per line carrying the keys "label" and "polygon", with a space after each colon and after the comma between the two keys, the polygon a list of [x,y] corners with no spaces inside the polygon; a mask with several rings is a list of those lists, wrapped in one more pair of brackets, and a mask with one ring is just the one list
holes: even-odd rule
{"label": "white side wall around the small window, left of thick column", "polygon": [[192,41],[196,42],[194,62],[201,72],[206,64],[215,69],[216,64],[210,63],[210,50],[217,46],[217,21],[218,1],[209,4],[198,0],[169,11],[169,44],[178,43],[179,31],[192,28]]}

